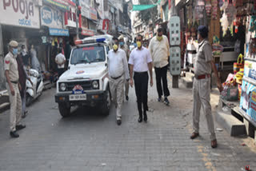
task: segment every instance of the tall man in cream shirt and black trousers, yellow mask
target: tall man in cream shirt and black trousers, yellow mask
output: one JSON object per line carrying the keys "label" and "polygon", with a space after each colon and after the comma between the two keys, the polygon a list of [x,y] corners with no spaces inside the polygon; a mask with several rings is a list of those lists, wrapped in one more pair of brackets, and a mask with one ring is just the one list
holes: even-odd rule
{"label": "tall man in cream shirt and black trousers, yellow mask", "polygon": [[158,34],[150,41],[150,54],[153,59],[154,72],[158,89],[158,101],[162,101],[162,90],[164,94],[164,103],[169,105],[168,96],[170,92],[167,83],[167,67],[169,52],[168,38],[163,34],[162,28],[158,28]]}

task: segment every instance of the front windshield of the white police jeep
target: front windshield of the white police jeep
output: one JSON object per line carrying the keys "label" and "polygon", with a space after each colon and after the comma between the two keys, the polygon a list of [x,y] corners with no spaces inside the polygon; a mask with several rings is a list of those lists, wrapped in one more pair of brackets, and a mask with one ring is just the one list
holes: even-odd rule
{"label": "front windshield of the white police jeep", "polygon": [[86,46],[73,50],[71,64],[105,62],[104,46]]}

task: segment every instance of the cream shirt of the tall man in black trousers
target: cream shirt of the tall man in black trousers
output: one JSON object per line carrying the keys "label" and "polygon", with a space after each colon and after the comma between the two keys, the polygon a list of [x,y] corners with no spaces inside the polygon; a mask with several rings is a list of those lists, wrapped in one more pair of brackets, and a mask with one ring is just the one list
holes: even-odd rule
{"label": "cream shirt of the tall man in black trousers", "polygon": [[168,65],[168,57],[170,56],[170,47],[168,38],[162,35],[162,40],[159,42],[155,36],[150,41],[150,54],[153,59],[154,67],[162,68]]}

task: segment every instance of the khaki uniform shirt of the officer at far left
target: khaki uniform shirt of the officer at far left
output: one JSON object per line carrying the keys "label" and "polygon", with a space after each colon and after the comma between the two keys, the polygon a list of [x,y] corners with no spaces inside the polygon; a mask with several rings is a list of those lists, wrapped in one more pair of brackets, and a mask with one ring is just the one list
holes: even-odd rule
{"label": "khaki uniform shirt of the officer at far left", "polygon": [[14,55],[9,52],[4,61],[4,70],[9,70],[10,81],[18,82],[18,63]]}

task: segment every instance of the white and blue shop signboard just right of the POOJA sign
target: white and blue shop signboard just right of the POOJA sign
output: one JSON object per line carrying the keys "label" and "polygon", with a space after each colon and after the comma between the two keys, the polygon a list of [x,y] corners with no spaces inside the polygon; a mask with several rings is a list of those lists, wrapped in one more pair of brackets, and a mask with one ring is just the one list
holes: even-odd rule
{"label": "white and blue shop signboard just right of the POOJA sign", "polygon": [[54,10],[49,6],[41,8],[41,25],[51,28],[62,29],[63,14],[61,10]]}

